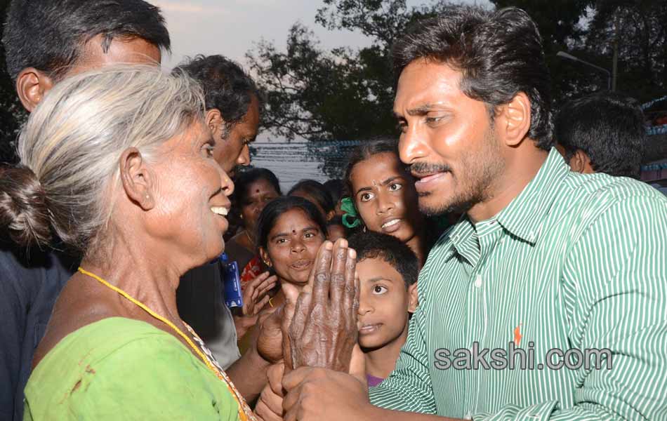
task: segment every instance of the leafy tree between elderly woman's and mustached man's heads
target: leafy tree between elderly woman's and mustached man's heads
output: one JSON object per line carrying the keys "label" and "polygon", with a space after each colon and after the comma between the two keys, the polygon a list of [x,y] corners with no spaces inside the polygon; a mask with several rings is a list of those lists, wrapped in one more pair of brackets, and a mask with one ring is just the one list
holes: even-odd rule
{"label": "leafy tree between elderly woman's and mustached man's heads", "polygon": [[408,8],[404,0],[324,0],[315,17],[320,25],[358,30],[371,46],[323,51],[301,23],[289,30],[284,52],[261,41],[246,58],[267,94],[265,128],[288,140],[311,140],[311,156],[326,158],[324,173],[340,177],[340,160],[329,158],[341,149],[317,142],[397,137],[390,48],[410,22],[436,9]]}

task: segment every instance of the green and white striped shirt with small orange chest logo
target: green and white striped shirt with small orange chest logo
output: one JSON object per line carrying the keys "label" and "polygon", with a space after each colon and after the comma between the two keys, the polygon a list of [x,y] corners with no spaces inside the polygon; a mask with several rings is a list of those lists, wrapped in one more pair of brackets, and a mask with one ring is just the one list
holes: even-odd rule
{"label": "green and white striped shirt with small orange chest logo", "polygon": [[[496,217],[464,218],[441,236],[418,296],[396,369],[370,391],[376,406],[474,420],[667,420],[667,199],[642,182],[572,173],[552,149]],[[612,368],[603,357],[588,370],[442,369],[442,349],[515,340],[533,344],[536,367],[550,349],[609,349]]]}

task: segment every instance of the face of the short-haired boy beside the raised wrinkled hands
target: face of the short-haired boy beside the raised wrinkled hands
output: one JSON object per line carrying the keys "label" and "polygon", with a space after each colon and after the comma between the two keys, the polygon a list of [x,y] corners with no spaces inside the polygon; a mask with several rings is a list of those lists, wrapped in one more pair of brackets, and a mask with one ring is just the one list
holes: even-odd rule
{"label": "face of the short-haired boy beside the raised wrinkled hands", "polygon": [[384,347],[407,333],[408,313],[417,305],[417,284],[405,287],[403,276],[381,258],[357,262],[359,275],[359,345]]}

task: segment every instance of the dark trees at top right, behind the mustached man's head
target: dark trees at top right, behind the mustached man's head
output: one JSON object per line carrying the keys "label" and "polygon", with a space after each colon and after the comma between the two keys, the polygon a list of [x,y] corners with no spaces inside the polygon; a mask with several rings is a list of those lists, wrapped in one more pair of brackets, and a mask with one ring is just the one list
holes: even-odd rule
{"label": "dark trees at top right, behind the mustached man's head", "polygon": [[567,51],[612,71],[616,90],[642,102],[667,93],[666,0],[491,0],[498,8],[517,6],[531,15],[544,40],[555,104],[607,89],[607,75],[562,60]]}

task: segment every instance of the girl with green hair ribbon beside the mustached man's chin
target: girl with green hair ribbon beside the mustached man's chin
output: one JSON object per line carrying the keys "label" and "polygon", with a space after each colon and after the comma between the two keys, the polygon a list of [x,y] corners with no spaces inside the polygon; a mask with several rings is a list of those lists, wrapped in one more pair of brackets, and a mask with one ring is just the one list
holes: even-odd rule
{"label": "girl with green hair ribbon beside the mustached man's chin", "polygon": [[421,267],[430,241],[414,178],[398,157],[397,143],[378,140],[359,145],[350,155],[344,180],[350,194],[343,199],[345,225],[395,236],[414,251]]}

